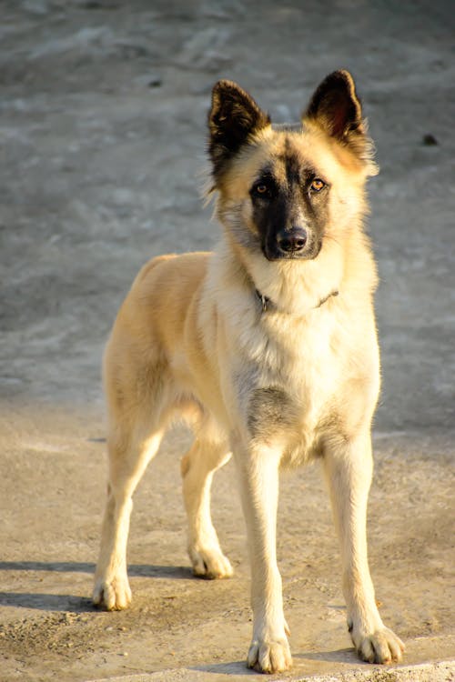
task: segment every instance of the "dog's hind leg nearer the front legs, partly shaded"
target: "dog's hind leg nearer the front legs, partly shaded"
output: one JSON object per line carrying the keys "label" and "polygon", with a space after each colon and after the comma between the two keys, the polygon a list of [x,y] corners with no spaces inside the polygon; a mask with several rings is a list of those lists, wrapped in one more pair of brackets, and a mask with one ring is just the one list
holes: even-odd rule
{"label": "dog's hind leg nearer the front legs, partly shaded", "polygon": [[187,509],[188,554],[195,576],[229,577],[232,567],[219,547],[210,516],[210,486],[214,473],[227,463],[227,447],[197,438],[182,458],[183,496]]}

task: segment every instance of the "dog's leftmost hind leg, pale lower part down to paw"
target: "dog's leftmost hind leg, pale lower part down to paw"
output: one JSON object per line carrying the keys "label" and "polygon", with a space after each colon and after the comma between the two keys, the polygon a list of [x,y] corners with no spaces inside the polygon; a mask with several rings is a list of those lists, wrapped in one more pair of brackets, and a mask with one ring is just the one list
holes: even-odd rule
{"label": "dog's leftmost hind leg, pale lower part down to paw", "polygon": [[127,434],[113,430],[108,438],[109,483],[93,601],[109,611],[126,608],[131,601],[126,542],[132,496],[147,464],[157,453],[161,437],[161,431],[146,435],[136,427]]}

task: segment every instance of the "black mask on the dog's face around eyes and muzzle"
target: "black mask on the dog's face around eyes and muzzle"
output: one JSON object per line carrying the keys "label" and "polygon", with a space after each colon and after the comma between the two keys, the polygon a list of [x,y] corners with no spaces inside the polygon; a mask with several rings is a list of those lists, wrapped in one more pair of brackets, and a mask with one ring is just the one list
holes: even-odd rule
{"label": "black mask on the dog's face around eyes and muzzle", "polygon": [[327,221],[329,185],[300,167],[291,153],[276,164],[279,173],[273,166],[264,169],[249,192],[262,252],[268,260],[316,258]]}

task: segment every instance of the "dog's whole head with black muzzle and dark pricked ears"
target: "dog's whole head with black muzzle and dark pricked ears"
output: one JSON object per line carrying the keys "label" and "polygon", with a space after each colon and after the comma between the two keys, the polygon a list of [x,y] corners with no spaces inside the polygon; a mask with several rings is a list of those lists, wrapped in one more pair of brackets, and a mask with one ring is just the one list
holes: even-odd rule
{"label": "dog's whole head with black muzzle and dark pricked ears", "polygon": [[359,223],[378,169],[347,71],[325,78],[297,126],[273,126],[248,93],[219,81],[208,127],[218,215],[239,245],[269,261],[314,259],[326,237]]}

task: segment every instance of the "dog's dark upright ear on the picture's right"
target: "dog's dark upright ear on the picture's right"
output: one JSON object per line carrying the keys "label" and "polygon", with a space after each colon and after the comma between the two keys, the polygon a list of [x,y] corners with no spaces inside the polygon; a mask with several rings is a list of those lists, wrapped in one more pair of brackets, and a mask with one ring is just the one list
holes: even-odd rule
{"label": "dog's dark upright ear on the picture's right", "polygon": [[349,71],[334,71],[311,97],[303,120],[319,125],[330,137],[347,145],[366,165],[369,175],[376,175],[372,161],[372,143],[362,107]]}

